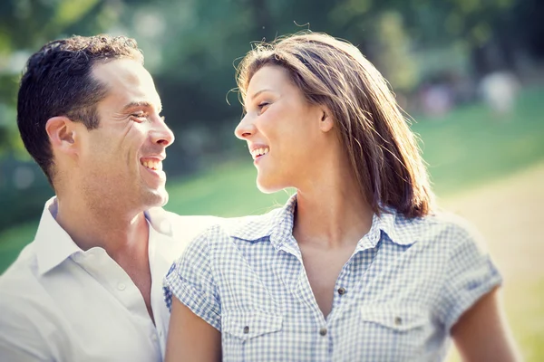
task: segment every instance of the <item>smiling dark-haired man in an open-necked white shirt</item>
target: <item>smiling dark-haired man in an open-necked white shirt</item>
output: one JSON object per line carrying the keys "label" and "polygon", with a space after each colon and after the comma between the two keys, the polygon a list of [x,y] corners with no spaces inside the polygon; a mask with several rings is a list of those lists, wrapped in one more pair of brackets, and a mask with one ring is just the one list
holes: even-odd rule
{"label": "smiling dark-haired man in an open-necked white shirt", "polygon": [[27,63],[17,123],[56,196],[0,277],[3,361],[162,359],[162,279],[215,219],[155,207],[174,135],[142,63],[135,41],[108,35],[48,43]]}

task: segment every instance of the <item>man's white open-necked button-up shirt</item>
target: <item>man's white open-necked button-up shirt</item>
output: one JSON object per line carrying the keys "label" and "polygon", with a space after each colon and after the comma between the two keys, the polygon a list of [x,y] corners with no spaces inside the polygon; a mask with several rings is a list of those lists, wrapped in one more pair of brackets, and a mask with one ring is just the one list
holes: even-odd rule
{"label": "man's white open-necked button-up shirt", "polygon": [[151,310],[129,275],[104,249],[83,252],[57,224],[53,197],[33,243],[0,277],[0,360],[161,361],[170,313],[162,279],[212,216],[160,208],[150,221]]}

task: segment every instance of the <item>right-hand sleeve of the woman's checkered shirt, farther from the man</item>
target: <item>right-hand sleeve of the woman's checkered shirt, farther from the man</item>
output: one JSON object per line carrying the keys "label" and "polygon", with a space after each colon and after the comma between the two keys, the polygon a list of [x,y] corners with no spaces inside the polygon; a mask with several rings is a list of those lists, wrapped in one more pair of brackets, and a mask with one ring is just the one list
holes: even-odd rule
{"label": "right-hand sleeve of the woman's checkered shirt, farther from the man", "polygon": [[502,282],[491,256],[482,247],[481,235],[473,229],[459,230],[461,243],[452,249],[445,269],[439,315],[446,330],[461,315]]}

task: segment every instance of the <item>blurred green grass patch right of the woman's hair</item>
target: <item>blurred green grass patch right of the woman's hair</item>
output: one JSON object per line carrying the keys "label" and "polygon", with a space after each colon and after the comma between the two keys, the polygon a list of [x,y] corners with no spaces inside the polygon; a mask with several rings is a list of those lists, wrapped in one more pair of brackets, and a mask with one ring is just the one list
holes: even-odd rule
{"label": "blurred green grass patch right of the woman's hair", "polygon": [[526,90],[516,110],[499,118],[482,105],[455,110],[443,119],[417,119],[439,195],[512,174],[544,159],[544,90]]}

